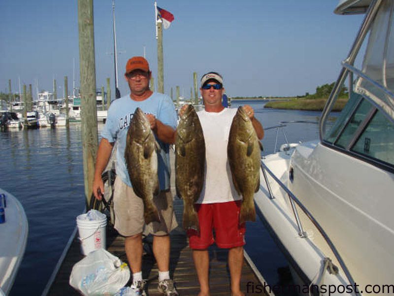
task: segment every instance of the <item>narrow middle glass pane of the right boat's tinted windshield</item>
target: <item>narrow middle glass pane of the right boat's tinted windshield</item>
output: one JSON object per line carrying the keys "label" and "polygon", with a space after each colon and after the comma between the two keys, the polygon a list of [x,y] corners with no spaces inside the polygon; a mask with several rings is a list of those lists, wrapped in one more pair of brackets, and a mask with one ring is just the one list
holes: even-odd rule
{"label": "narrow middle glass pane of the right boat's tinted windshield", "polygon": [[372,105],[367,100],[362,100],[361,104],[359,107],[357,107],[357,110],[353,113],[352,117],[347,123],[342,134],[335,142],[336,146],[345,149],[349,146],[353,138],[356,136],[359,126],[365,120],[372,108]]}

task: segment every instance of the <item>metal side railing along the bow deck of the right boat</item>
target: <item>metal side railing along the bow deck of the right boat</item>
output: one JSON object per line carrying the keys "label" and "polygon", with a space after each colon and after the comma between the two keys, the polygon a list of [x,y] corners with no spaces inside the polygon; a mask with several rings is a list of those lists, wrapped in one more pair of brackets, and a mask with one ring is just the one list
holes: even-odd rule
{"label": "metal side railing along the bow deck of the right boat", "polygon": [[[298,216],[298,212],[296,209],[296,204],[298,205],[298,207],[302,210],[302,212],[306,215],[306,217],[313,223],[313,225],[316,227],[316,229],[320,232],[320,234],[322,235],[322,237],[324,238],[324,240],[326,241],[328,247],[330,248],[331,252],[334,254],[335,258],[338,260],[339,265],[341,266],[343,272],[345,273],[349,283],[353,286],[355,286],[355,281],[353,280],[352,275],[350,274],[348,268],[346,267],[345,262],[343,261],[342,257],[339,255],[338,250],[335,248],[334,244],[332,243],[332,241],[330,240],[330,238],[328,237],[328,234],[326,233],[326,231],[324,231],[323,227],[319,224],[319,222],[317,222],[317,220],[313,217],[313,215],[308,211],[308,209],[301,203],[301,201],[290,191],[290,189],[284,185],[275,175],[274,173],[266,166],[266,164],[263,162],[263,160],[261,161],[261,169],[263,172],[263,177],[265,180],[265,183],[267,185],[268,188],[268,192],[269,192],[269,198],[270,199],[274,199],[274,195],[272,193],[272,189],[269,185],[268,182],[268,178],[267,178],[267,174],[266,172],[268,172],[268,174],[272,177],[272,179],[282,187],[282,189],[287,193],[287,195],[289,196],[289,200],[292,206],[292,210],[293,210],[293,214],[297,223],[297,227],[298,227],[298,235],[302,238],[307,238],[307,234],[306,232],[303,230],[302,228],[302,224],[301,221],[299,219]],[[329,258],[325,258],[325,261],[328,260],[329,262],[332,262],[331,259]],[[328,264],[328,272],[331,274],[337,274],[338,273],[338,268],[330,263]],[[361,296],[359,291],[355,291],[355,294],[358,296]]]}

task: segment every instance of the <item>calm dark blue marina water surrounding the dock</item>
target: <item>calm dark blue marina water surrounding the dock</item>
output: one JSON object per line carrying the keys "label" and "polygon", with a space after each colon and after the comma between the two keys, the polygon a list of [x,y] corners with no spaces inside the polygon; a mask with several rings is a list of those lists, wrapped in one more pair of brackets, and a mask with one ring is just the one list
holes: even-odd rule
{"label": "calm dark blue marina water surrounding the dock", "polygon": [[[265,110],[262,102],[249,104],[264,127],[281,120],[317,121],[320,112]],[[99,130],[102,125],[99,125]],[[318,125],[286,127],[289,142],[316,139]],[[274,130],[265,132],[264,154],[274,149]],[[283,133],[278,143],[284,142]],[[80,124],[68,129],[0,132],[0,187],[14,194],[25,208],[29,237],[25,257],[11,290],[15,295],[41,295],[85,207]],[[1,238],[3,239],[3,238]],[[287,265],[261,222],[247,226],[246,250],[270,284],[278,282],[278,268]]]}

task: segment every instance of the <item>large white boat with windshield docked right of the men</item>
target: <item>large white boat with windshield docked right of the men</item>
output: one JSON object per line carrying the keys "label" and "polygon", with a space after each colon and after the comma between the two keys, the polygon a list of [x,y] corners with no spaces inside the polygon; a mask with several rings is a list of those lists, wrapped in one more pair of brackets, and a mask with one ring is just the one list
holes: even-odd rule
{"label": "large white boat with windshield docked right of the men", "polygon": [[[394,293],[394,1],[342,0],[335,9],[355,12],[366,15],[322,113],[320,140],[266,156],[255,194],[300,294],[309,285],[320,295]],[[345,81],[349,101],[331,124]]]}

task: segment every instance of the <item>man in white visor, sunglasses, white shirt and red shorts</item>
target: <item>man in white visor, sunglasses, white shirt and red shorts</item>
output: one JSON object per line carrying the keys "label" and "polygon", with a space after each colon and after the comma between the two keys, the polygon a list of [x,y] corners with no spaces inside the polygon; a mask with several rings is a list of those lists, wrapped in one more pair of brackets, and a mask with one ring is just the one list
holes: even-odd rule
{"label": "man in white visor, sunglasses, white shirt and red shorts", "polygon": [[[245,244],[245,223],[239,225],[239,209],[242,197],[236,193],[231,182],[230,167],[227,159],[227,144],[230,126],[236,109],[222,105],[223,78],[216,72],[201,77],[201,95],[205,110],[197,112],[205,140],[206,174],[204,187],[195,204],[200,233],[189,229],[189,245],[193,249],[198,281],[199,296],[209,294],[209,255],[207,248],[216,242],[219,248],[229,250],[231,295],[244,295],[240,290],[243,264],[243,245]],[[258,138],[264,136],[263,126],[254,117],[252,107],[245,105],[244,110],[252,120]],[[182,112],[182,111],[181,111]],[[215,239],[213,229],[215,229]]]}

